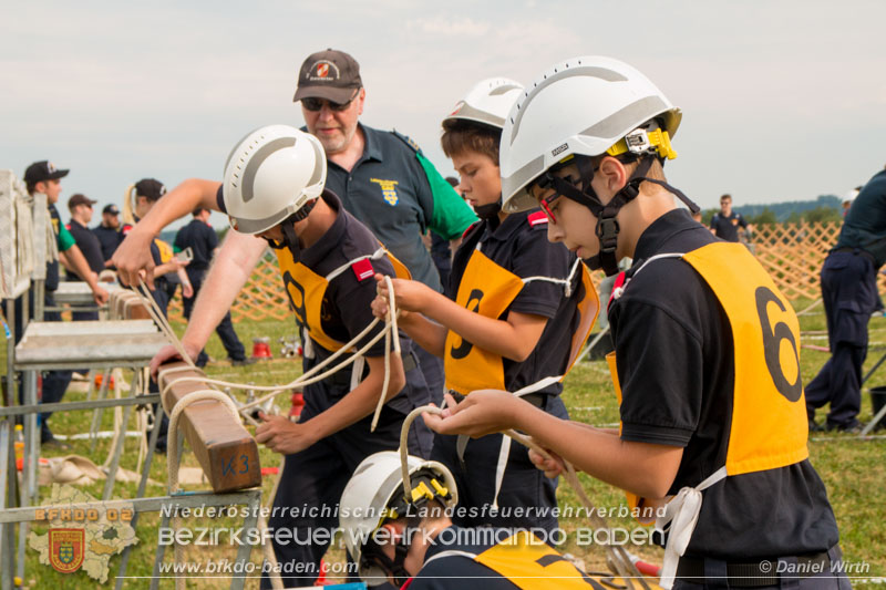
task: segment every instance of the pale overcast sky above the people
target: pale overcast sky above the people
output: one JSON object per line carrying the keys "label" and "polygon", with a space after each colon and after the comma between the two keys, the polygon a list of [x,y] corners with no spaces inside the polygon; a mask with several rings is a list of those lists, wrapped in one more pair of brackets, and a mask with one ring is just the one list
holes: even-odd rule
{"label": "pale overcast sky above the people", "polygon": [[445,175],[440,120],[475,82],[605,54],[683,110],[666,172],[703,208],[843,195],[886,164],[884,22],[880,0],[17,2],[0,19],[0,168],[71,168],[63,219],[78,192],[121,205],[145,176],[218,179],[250,130],[302,124],[298,69],[332,46],[360,62],[361,121]]}

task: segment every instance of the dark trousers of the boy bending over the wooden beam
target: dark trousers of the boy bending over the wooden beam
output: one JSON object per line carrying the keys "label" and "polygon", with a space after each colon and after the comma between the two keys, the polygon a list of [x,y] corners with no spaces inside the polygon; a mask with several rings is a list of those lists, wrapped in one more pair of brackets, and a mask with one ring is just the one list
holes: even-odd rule
{"label": "dark trousers of the boy bending over the wooden beam", "polygon": [[[308,369],[310,364],[306,363],[305,370]],[[422,372],[408,371],[406,395],[425,390]],[[338,386],[334,391],[339,393],[332,394],[327,382],[307,386],[299,423],[310,422],[312,417],[332,407],[341,400],[342,394],[348,393],[348,387]],[[409,396],[413,398],[412,395]],[[381,451],[396,451],[400,447],[400,429],[405,417],[402,412],[385,405],[375,432],[370,432],[372,416],[369,415],[303,451],[286,456],[268,528],[271,539],[275,539],[276,530],[288,531],[280,536],[280,544],[274,544],[274,552],[281,568],[286,563],[295,563],[290,571],[302,573],[281,573],[285,586],[311,586],[320,571],[320,559],[329,547],[328,537],[322,535],[326,530],[338,527],[338,504],[344,486],[360,462],[369,455]],[[409,453],[426,458],[431,454],[432,442],[431,431],[424,422],[415,420],[410,427]],[[295,510],[298,514],[293,514]],[[317,537],[320,542],[315,542],[311,535],[321,529],[323,534]],[[298,563],[302,566],[299,567]],[[287,581],[287,578],[292,579]],[[267,576],[261,578],[261,588],[271,588]]]}

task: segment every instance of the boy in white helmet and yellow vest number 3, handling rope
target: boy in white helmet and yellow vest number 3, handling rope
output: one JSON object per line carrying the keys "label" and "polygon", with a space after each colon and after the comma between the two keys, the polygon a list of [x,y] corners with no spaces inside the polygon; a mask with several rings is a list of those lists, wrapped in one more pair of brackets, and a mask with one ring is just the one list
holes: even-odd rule
{"label": "boy in white helmet and yellow vest number 3, handling rope", "polygon": [[[523,93],[512,80],[476,84],[443,120],[443,152],[461,176],[460,190],[481,218],[455,252],[446,292],[395,280],[403,330],[443,358],[446,387],[456,395],[496,387],[547,414],[568,418],[559,397],[598,308],[587,269],[546,239],[538,209],[502,210],[498,142],[511,106]],[[375,306],[387,312],[379,280]],[[525,447],[501,434],[476,441],[440,435],[432,458],[450,467],[471,508],[463,526],[557,527],[557,480],[546,478]]]}

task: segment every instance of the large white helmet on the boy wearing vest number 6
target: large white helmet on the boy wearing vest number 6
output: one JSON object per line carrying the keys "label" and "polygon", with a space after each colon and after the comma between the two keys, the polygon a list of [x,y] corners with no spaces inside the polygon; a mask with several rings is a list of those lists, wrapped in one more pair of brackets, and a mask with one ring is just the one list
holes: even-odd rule
{"label": "large white helmet on the boy wearing vest number 6", "polygon": [[[673,136],[681,117],[655,84],[624,62],[591,55],[558,63],[524,92],[505,122],[499,156],[503,209],[536,207],[526,186],[565,157],[598,156],[655,118]],[[674,157],[668,135],[653,137],[655,133],[638,141]],[[620,153],[632,147],[628,142]]]}

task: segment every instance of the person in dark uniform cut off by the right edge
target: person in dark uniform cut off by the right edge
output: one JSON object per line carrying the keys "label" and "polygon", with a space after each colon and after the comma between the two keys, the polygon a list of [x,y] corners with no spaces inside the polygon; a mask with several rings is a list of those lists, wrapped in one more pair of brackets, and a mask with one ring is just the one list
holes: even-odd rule
{"label": "person in dark uniform cut off by the right edge", "polygon": [[[831,359],[806,385],[810,429],[859,432],[867,322],[877,308],[877,270],[886,262],[886,170],[862,188],[822,267]],[[815,410],[831,404],[824,425]]]}

